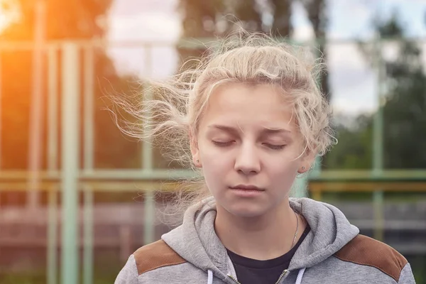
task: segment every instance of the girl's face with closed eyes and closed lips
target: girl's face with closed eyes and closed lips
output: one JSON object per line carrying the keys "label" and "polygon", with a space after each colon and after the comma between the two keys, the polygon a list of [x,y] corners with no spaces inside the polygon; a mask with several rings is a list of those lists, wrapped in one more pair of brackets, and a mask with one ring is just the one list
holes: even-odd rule
{"label": "girl's face with closed eyes and closed lips", "polygon": [[279,87],[224,84],[212,93],[192,138],[195,165],[217,207],[256,217],[288,198],[297,172],[309,168]]}

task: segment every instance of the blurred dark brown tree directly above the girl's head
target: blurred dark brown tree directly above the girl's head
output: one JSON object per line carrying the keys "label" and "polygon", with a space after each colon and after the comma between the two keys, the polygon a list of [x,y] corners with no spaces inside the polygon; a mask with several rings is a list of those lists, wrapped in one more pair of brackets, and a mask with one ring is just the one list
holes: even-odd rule
{"label": "blurred dark brown tree directly above the girl's head", "polygon": [[[214,38],[222,36],[236,24],[249,31],[263,31],[288,36],[292,31],[290,7],[293,0],[268,0],[261,6],[256,0],[236,1],[195,1],[180,0],[179,11],[182,14],[182,39]],[[273,17],[270,24],[264,23],[262,13],[268,11]],[[229,16],[232,15],[232,16]],[[180,60],[198,58],[204,49],[181,48],[178,46]],[[188,66],[190,67],[190,66]]]}

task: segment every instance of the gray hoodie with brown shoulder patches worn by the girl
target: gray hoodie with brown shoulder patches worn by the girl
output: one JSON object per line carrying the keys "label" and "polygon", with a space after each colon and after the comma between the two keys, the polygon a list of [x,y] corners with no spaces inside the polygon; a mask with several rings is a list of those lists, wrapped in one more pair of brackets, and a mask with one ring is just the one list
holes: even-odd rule
{"label": "gray hoodie with brown shoulder patches worn by the girl", "polygon": [[[187,209],[181,226],[133,253],[115,284],[239,283],[214,231],[213,197]],[[278,283],[415,283],[410,264],[390,246],[366,236],[330,204],[290,199],[310,232]],[[249,284],[249,283],[243,283]]]}

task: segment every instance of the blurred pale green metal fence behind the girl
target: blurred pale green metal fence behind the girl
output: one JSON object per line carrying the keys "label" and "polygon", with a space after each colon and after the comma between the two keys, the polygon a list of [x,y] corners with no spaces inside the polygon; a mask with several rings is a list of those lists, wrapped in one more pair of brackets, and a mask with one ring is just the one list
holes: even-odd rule
{"label": "blurred pale green metal fence behind the girl", "polygon": [[[185,43],[194,48],[197,44],[202,44],[203,40],[197,40],[197,43]],[[205,42],[205,40],[204,40]],[[378,44],[378,42],[376,43]],[[109,43],[108,46],[110,46]],[[171,43],[124,43],[119,46],[140,47],[146,52],[146,65],[149,70],[152,66],[151,53],[155,47],[161,45],[172,45]],[[28,192],[28,209],[38,206],[38,192],[48,192],[48,245],[47,245],[47,276],[48,284],[56,283],[58,275],[58,252],[56,250],[57,243],[57,227],[58,227],[58,192],[62,192],[62,283],[76,284],[79,278],[79,256],[78,256],[78,222],[77,213],[79,210],[78,194],[84,192],[84,206],[82,208],[84,214],[83,224],[83,283],[92,283],[93,278],[93,194],[96,191],[134,191],[138,189],[146,192],[145,198],[145,215],[143,222],[143,241],[148,244],[154,240],[153,235],[153,219],[155,202],[153,193],[158,189],[158,180],[173,180],[174,178],[192,177],[192,173],[188,170],[160,170],[153,168],[153,148],[149,141],[143,143],[142,151],[142,168],[132,170],[99,170],[94,168],[94,48],[106,47],[106,43],[100,41],[80,41],[80,42],[52,42],[45,45],[35,46],[33,43],[1,43],[0,50],[34,50],[35,58],[42,53],[47,53],[47,97],[48,109],[48,168],[41,171],[37,168],[40,157],[37,156],[38,148],[40,148],[40,137],[37,136],[37,131],[40,129],[40,119],[38,116],[43,115],[43,111],[38,110],[40,104],[33,104],[31,121],[32,146],[31,146],[31,163],[30,170],[0,170],[0,190],[23,190]],[[58,58],[57,51],[61,50],[62,58]],[[80,66],[80,50],[84,50],[84,66]],[[62,61],[62,67],[58,70],[58,60]],[[1,58],[0,58],[1,61]],[[380,58],[377,59],[380,62]],[[40,67],[43,62],[35,61],[33,70],[33,100],[39,102],[43,97],[43,92],[40,90],[38,80],[41,80]],[[81,68],[82,67],[82,68]],[[79,70],[84,70],[84,94],[82,102],[80,98],[80,81]],[[380,69],[380,68],[379,68]],[[7,70],[3,70],[7,72]],[[61,105],[58,105],[58,74],[60,74],[62,82]],[[381,75],[378,72],[378,87],[377,96],[381,100],[383,96],[383,87],[381,87]],[[383,78],[382,78],[383,79]],[[0,74],[1,84],[1,74]],[[0,94],[1,97],[1,94]],[[1,102],[1,101],[0,101]],[[80,145],[80,122],[79,105],[83,105],[83,142]],[[5,106],[0,106],[2,109]],[[62,118],[58,117],[58,109],[62,114]],[[61,121],[61,125],[58,123]],[[0,121],[1,125],[1,121]],[[374,139],[371,141],[374,148],[373,169],[366,171],[321,171],[317,166],[307,179],[298,180],[301,185],[307,185],[309,182],[335,182],[344,180],[412,180],[425,181],[426,170],[383,170],[383,149],[381,147],[383,141],[382,128],[383,114],[380,111],[376,113],[374,123]],[[58,129],[61,129],[60,133]],[[1,135],[6,135],[2,133]],[[60,134],[61,139],[58,139]],[[1,137],[0,137],[1,141]],[[61,143],[61,145],[59,145]],[[62,151],[59,151],[59,149]],[[79,165],[79,151],[82,148],[84,153],[83,167]],[[1,153],[0,153],[1,155]],[[58,165],[58,160],[61,160],[61,167]],[[129,182],[131,181],[131,182]],[[374,186],[373,186],[374,187]],[[419,191],[426,191],[425,187],[419,185]],[[170,190],[173,190],[173,185],[170,185]],[[376,204],[376,224],[382,224],[381,209],[383,208],[383,184],[377,184],[377,187],[371,190],[373,192],[373,201]],[[403,190],[403,189],[401,189]],[[327,191],[323,188],[322,192]],[[316,192],[321,192],[317,190]],[[302,192],[299,192],[302,195]],[[320,195],[315,195],[320,198]],[[0,209],[1,210],[1,209]],[[378,226],[381,227],[381,226]],[[383,229],[383,228],[382,228]],[[380,236],[380,233],[378,233]]]}

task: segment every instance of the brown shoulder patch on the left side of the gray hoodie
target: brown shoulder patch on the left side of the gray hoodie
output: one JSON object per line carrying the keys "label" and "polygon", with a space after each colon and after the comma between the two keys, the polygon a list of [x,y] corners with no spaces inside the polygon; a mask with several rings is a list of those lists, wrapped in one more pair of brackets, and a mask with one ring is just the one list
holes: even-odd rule
{"label": "brown shoulder patch on the left side of the gray hoodie", "polygon": [[133,253],[138,267],[138,273],[146,273],[156,268],[164,266],[175,266],[176,264],[185,263],[185,259],[180,257],[178,253],[165,244],[165,241],[159,240],[152,244],[142,246]]}

